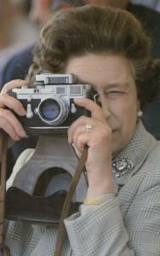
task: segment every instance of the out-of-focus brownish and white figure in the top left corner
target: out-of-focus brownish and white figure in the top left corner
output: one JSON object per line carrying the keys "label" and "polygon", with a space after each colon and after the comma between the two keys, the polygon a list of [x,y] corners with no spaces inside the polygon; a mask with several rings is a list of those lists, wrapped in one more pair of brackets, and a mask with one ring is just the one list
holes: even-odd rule
{"label": "out-of-focus brownish and white figure in the top left corner", "polygon": [[28,20],[31,0],[0,0],[0,70],[12,55],[37,41],[38,31]]}

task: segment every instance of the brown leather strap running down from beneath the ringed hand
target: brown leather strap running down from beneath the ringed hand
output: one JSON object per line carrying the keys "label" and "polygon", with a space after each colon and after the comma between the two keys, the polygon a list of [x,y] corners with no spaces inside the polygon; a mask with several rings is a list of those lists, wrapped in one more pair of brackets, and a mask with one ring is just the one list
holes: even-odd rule
{"label": "brown leather strap running down from beneath the ringed hand", "polygon": [[65,236],[64,219],[68,216],[68,212],[69,212],[69,209],[71,206],[71,198],[72,198],[72,195],[77,187],[79,178],[81,177],[81,174],[83,172],[83,168],[84,168],[85,162],[87,160],[87,156],[88,156],[88,148],[86,147],[86,148],[84,148],[83,154],[78,162],[77,170],[76,170],[74,176],[72,177],[71,185],[68,189],[68,192],[66,195],[66,200],[65,200],[62,212],[61,212],[60,224],[59,224],[57,239],[56,239],[56,243],[55,243],[54,256],[61,255],[62,242],[63,242],[64,236]]}

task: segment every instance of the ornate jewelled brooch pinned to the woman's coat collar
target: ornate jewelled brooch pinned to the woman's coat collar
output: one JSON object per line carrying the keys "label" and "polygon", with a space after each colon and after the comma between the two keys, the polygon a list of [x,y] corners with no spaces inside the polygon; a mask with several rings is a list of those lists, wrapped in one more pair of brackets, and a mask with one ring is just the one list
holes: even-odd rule
{"label": "ornate jewelled brooch pinned to the woman's coat collar", "polygon": [[122,177],[123,175],[131,172],[134,168],[133,162],[129,160],[129,158],[121,158],[119,160],[113,160],[112,164],[112,172],[116,175],[116,177]]}

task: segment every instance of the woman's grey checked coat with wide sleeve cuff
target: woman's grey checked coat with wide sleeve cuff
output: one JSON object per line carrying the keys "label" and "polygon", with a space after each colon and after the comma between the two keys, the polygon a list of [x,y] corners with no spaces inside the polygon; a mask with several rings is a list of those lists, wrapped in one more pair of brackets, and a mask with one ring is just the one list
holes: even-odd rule
{"label": "woman's grey checked coat with wide sleeve cuff", "polygon": [[[14,172],[31,152],[21,155]],[[141,122],[114,161],[123,158],[134,166],[122,177],[113,173],[117,195],[106,195],[100,206],[82,205],[66,219],[62,256],[160,255],[160,143]],[[7,227],[12,256],[54,256],[56,229],[15,222]]]}

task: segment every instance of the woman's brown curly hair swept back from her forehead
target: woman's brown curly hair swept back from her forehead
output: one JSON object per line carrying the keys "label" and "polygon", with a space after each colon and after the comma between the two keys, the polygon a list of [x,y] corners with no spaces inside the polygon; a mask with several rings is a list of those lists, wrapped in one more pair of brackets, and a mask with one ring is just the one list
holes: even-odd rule
{"label": "woman's brown curly hair swept back from her forehead", "polygon": [[72,56],[122,54],[134,64],[141,100],[140,81],[149,63],[150,44],[140,22],[126,10],[86,5],[60,11],[43,27],[28,79],[32,82],[37,73],[46,71],[64,73]]}

